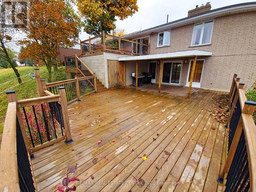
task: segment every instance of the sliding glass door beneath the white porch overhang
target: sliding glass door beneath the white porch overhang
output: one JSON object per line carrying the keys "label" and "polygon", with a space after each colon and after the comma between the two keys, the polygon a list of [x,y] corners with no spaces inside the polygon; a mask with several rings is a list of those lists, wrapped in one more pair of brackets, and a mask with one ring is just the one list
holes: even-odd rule
{"label": "sliding glass door beneath the white porch overhang", "polygon": [[180,84],[181,63],[180,62],[164,62],[163,63],[162,83]]}

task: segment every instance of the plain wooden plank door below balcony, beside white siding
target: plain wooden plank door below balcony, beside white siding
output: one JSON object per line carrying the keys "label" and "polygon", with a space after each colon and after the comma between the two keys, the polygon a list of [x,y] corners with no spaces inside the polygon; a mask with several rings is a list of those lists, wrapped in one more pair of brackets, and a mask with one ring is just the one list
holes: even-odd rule
{"label": "plain wooden plank door below balcony, beside white siding", "polygon": [[109,87],[114,88],[123,84],[123,62],[108,60]]}

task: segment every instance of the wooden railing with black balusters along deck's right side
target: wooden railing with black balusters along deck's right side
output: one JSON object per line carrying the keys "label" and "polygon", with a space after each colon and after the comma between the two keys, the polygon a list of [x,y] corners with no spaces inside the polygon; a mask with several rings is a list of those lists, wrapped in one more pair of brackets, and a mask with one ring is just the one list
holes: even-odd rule
{"label": "wooden railing with black balusters along deck's right side", "polygon": [[220,176],[223,191],[256,191],[256,126],[252,118],[256,102],[246,100],[243,87],[235,74],[227,120],[228,156]]}

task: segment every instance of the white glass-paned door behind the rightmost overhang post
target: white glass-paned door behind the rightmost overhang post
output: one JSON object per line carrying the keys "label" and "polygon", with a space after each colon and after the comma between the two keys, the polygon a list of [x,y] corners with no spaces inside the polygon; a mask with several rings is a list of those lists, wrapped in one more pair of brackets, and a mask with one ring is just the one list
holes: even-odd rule
{"label": "white glass-paned door behind the rightmost overhang post", "polygon": [[[186,86],[189,86],[189,80],[190,80],[190,75],[193,67],[193,60],[190,60],[189,63],[189,68],[188,68],[188,77],[187,77],[187,82]],[[203,73],[203,67],[204,67],[204,60],[197,60],[196,67],[195,67],[195,72],[194,72],[194,77],[192,81],[192,87],[195,88],[201,88],[201,79],[202,79],[202,73]]]}

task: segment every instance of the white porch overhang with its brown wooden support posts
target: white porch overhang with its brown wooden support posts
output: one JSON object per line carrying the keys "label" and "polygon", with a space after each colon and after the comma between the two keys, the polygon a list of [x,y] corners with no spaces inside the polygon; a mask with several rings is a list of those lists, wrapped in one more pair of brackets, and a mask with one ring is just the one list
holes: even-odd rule
{"label": "white porch overhang with its brown wooden support posts", "polygon": [[[158,80],[158,93],[161,93],[161,78],[162,78],[162,69],[163,69],[163,60],[164,59],[173,59],[173,58],[193,58],[193,63],[191,63],[191,75],[189,78],[189,87],[187,98],[190,98],[192,82],[194,78],[194,72],[196,67],[196,62],[198,57],[211,56],[212,52],[209,51],[200,51],[200,50],[188,50],[188,51],[178,51],[178,52],[169,52],[161,54],[152,54],[152,55],[140,55],[133,57],[119,57],[118,60],[125,63],[125,61],[136,61],[136,90],[138,90],[138,61],[140,60],[160,60],[160,70],[159,70],[159,80]],[[125,64],[124,64],[125,66]]]}

